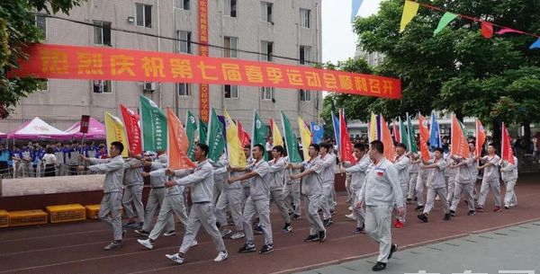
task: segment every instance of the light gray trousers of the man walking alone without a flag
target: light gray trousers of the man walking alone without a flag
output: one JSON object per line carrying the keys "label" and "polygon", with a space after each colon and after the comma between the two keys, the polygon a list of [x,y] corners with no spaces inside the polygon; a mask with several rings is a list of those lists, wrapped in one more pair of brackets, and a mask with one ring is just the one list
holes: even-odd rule
{"label": "light gray trousers of the man walking alone without a flag", "polygon": [[392,209],[393,205],[365,207],[365,233],[379,243],[377,261],[386,263],[392,248]]}

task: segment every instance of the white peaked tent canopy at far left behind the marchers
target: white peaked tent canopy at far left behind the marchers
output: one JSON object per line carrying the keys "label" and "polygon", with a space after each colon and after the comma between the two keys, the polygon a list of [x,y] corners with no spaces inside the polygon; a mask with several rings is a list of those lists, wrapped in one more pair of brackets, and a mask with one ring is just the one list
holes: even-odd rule
{"label": "white peaked tent canopy at far left behind the marchers", "polygon": [[36,117],[23,123],[19,128],[8,132],[7,137],[13,139],[69,139],[72,134],[54,128],[44,120]]}

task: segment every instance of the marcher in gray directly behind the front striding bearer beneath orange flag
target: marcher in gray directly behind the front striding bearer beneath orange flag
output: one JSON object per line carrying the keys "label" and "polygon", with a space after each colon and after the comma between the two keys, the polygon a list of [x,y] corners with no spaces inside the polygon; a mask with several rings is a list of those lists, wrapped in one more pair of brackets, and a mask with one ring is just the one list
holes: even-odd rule
{"label": "marcher in gray directly behind the front striding bearer beneath orange flag", "polygon": [[229,183],[250,179],[249,198],[244,206],[244,232],[246,233],[246,244],[238,249],[238,252],[255,252],[257,250],[254,242],[251,219],[258,215],[260,225],[265,234],[265,245],[259,253],[266,254],[274,251],[272,242],[272,225],[270,223],[270,165],[263,158],[265,147],[262,145],[253,146],[253,159],[255,163],[246,168],[231,168],[231,172],[247,172],[239,177],[229,178]]}

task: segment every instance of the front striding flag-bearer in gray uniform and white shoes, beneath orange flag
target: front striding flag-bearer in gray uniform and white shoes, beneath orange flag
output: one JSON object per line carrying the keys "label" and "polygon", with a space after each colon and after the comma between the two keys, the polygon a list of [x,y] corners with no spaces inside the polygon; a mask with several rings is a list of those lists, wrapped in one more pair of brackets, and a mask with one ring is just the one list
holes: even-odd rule
{"label": "front striding flag-bearer in gray uniform and white shoes, beneath orange flag", "polygon": [[202,227],[210,235],[211,241],[215,244],[218,256],[214,261],[225,261],[229,257],[223,238],[216,226],[214,208],[211,204],[213,190],[213,167],[206,159],[209,148],[204,144],[197,144],[194,149],[194,158],[197,167],[193,173],[176,181],[166,181],[165,186],[172,188],[177,185],[191,185],[191,199],[193,205],[189,212],[187,227],[185,228],[184,240],[180,249],[175,254],[166,254],[166,258],[175,263],[184,263],[184,255],[193,246],[195,237]]}

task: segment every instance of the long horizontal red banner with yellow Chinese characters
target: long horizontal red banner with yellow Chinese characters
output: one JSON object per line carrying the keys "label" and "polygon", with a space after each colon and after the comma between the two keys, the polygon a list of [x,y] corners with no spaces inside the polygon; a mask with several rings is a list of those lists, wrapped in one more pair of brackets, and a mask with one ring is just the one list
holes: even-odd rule
{"label": "long horizontal red banner with yellow Chinese characters", "polygon": [[399,79],[271,62],[130,49],[36,44],[12,75],[273,86],[401,99]]}

